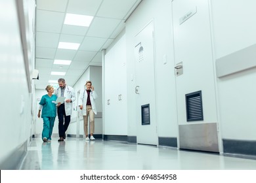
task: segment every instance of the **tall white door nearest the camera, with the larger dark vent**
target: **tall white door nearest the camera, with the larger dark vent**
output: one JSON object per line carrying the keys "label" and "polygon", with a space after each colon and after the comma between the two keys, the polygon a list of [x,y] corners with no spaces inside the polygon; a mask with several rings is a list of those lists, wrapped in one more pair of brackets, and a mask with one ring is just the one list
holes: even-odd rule
{"label": "tall white door nearest the camera, with the larger dark vent", "polygon": [[[202,0],[174,0],[172,1],[172,11],[179,138],[180,142],[181,140],[186,141],[186,144],[195,146],[196,149],[196,146],[204,146],[204,144],[197,143],[205,138],[203,137],[207,132],[203,129],[205,124],[217,123],[209,5],[208,1]],[[201,97],[197,106],[198,108],[202,107],[198,110],[200,113],[202,112],[200,118],[198,116],[194,119],[188,118],[194,109],[189,110],[188,103],[190,101],[186,97],[192,95]],[[202,125],[202,136],[196,131],[192,131],[192,126],[186,126],[191,124],[204,124]],[[201,125],[198,126],[201,127]],[[181,131],[183,129],[189,131]],[[216,142],[217,129],[207,135],[209,134],[213,134],[214,137],[209,138]],[[183,137],[185,139],[181,139]],[[200,139],[196,139],[196,137]]]}

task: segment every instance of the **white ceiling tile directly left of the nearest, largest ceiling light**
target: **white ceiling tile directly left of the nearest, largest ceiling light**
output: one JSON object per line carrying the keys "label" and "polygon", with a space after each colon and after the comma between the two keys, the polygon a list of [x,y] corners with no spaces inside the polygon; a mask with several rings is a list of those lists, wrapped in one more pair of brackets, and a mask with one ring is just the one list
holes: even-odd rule
{"label": "white ceiling tile directly left of the nearest, largest ceiling light", "polygon": [[37,10],[36,29],[50,33],[60,33],[64,22],[63,12],[51,12],[47,10]]}

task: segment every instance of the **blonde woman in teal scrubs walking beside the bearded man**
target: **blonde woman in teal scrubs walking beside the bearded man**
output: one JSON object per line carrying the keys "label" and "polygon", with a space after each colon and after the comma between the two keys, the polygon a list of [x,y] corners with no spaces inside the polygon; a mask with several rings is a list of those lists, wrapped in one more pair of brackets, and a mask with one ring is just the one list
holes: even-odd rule
{"label": "blonde woman in teal scrubs walking beside the bearded man", "polygon": [[43,132],[42,132],[42,139],[44,142],[51,141],[51,135],[53,133],[53,126],[56,118],[56,104],[55,101],[57,96],[54,95],[54,88],[51,85],[48,85],[45,90],[48,92],[46,95],[43,95],[41,101],[39,103],[39,111],[38,111],[38,118],[40,118],[41,108],[43,118]]}

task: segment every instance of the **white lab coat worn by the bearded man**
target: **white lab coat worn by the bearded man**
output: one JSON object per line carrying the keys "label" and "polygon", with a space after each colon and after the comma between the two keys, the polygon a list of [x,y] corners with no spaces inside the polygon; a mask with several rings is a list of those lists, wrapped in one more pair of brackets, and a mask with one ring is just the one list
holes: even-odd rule
{"label": "white lab coat worn by the bearded man", "polygon": [[[61,95],[61,89],[60,87],[55,91],[57,97],[60,97]],[[72,107],[73,107],[73,103],[75,101],[75,90],[74,88],[72,88],[71,86],[66,85],[65,91],[64,91],[64,97],[66,97],[65,99],[65,112],[66,112],[66,116],[70,116],[72,114]],[[71,99],[72,103],[66,103],[67,99]]]}

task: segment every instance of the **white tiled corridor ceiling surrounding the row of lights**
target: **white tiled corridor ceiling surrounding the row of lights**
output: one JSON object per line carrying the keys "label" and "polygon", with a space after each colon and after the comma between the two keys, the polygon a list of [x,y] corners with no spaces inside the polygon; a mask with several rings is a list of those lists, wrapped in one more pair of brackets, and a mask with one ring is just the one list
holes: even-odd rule
{"label": "white tiled corridor ceiling surrounding the row of lights", "polygon": [[[141,0],[37,0],[35,89],[45,89],[49,80],[65,78],[74,86],[89,65],[102,65],[101,50],[108,48],[125,27],[125,20]],[[94,16],[90,27],[64,25],[66,13]],[[80,43],[78,50],[59,49],[58,42]],[[54,65],[54,59],[71,59],[70,65]],[[66,72],[53,76],[52,71]]]}

